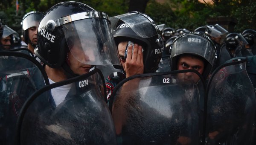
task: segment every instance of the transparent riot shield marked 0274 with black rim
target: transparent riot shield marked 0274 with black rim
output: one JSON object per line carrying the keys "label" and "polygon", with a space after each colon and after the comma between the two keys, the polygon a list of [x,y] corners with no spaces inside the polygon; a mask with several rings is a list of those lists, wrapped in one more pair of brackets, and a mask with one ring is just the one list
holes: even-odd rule
{"label": "transparent riot shield marked 0274 with black rim", "polygon": [[[18,144],[115,145],[105,92],[99,69],[38,90],[20,113]],[[62,102],[57,103],[61,98]]]}

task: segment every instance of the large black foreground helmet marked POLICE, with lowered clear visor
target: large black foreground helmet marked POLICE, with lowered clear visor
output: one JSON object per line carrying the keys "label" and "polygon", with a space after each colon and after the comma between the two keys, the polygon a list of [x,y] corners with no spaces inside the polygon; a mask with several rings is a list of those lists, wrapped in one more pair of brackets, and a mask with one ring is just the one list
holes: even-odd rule
{"label": "large black foreground helmet marked POLICE, with lowered clear visor", "polygon": [[52,6],[39,23],[37,37],[34,52],[49,67],[67,64],[68,52],[83,64],[121,65],[108,15],[84,3]]}

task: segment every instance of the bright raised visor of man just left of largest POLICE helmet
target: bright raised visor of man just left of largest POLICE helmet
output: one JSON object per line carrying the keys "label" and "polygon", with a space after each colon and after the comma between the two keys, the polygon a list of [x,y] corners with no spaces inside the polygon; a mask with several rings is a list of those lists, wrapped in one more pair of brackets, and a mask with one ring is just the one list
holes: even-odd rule
{"label": "bright raised visor of man just left of largest POLICE helmet", "polygon": [[32,13],[24,18],[22,21],[22,29],[26,30],[30,27],[38,27],[42,14]]}

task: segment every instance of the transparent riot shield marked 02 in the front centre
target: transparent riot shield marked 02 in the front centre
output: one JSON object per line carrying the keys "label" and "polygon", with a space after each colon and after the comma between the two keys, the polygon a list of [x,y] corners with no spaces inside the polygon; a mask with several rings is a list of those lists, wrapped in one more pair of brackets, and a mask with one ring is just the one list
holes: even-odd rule
{"label": "transparent riot shield marked 02 in the front centre", "polygon": [[122,145],[201,142],[204,83],[194,70],[134,75],[121,81],[109,107]]}

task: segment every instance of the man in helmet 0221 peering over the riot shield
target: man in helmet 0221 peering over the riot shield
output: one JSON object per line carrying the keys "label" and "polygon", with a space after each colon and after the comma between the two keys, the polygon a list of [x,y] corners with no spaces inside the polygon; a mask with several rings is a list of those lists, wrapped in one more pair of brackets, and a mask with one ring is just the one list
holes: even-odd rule
{"label": "man in helmet 0221 peering over the riot shield", "polygon": [[[186,43],[187,42],[187,43]],[[171,70],[197,70],[207,79],[215,61],[216,49],[212,40],[200,32],[186,32],[177,36],[171,47]],[[184,73],[183,79],[197,82],[199,77]]]}

